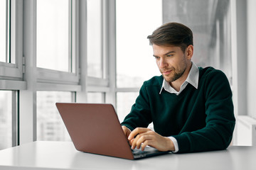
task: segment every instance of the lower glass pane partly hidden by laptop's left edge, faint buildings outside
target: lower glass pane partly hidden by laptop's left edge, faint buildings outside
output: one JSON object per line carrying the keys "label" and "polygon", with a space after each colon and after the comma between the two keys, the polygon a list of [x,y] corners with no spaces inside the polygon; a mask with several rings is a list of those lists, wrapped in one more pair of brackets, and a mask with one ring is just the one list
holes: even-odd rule
{"label": "lower glass pane partly hidden by laptop's left edge, faint buildings outside", "polygon": [[36,93],[37,140],[70,141],[55,103],[71,102],[71,98],[71,92],[38,91]]}

